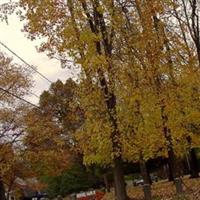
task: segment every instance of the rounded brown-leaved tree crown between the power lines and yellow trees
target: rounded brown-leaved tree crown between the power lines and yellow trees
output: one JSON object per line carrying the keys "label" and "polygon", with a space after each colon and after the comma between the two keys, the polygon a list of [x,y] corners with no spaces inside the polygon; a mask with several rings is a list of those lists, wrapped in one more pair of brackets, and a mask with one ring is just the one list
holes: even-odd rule
{"label": "rounded brown-leaved tree crown between the power lines and yellow trees", "polygon": [[72,79],[65,83],[58,80],[40,96],[40,107],[62,128],[63,139],[76,146],[74,132],[84,121],[84,111],[80,109],[77,96],[78,84]]}

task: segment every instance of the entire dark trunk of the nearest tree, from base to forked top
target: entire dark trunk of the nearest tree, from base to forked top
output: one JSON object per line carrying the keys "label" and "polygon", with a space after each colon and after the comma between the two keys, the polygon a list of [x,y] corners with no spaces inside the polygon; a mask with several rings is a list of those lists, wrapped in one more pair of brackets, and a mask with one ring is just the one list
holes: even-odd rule
{"label": "entire dark trunk of the nearest tree, from base to forked top", "polygon": [[[109,36],[107,35],[108,32],[104,16],[101,12],[98,11],[98,7],[100,6],[99,1],[94,1],[93,16],[91,16],[90,12],[88,11],[87,1],[81,1],[81,4],[83,10],[85,11],[85,15],[87,16],[90,30],[96,35],[100,33],[102,34],[102,40],[95,42],[97,54],[98,55],[104,54],[108,58],[108,60],[110,60],[112,56],[112,43],[110,43],[108,39]],[[103,50],[102,50],[102,45],[103,45]],[[110,72],[114,68],[113,64],[110,61],[108,62],[108,68]],[[118,152],[119,150],[121,150],[121,147],[118,139],[116,140],[119,131],[118,131],[117,120],[115,118],[116,96],[112,91],[112,89],[110,90],[110,88],[112,88],[112,81],[110,81],[112,80],[112,78],[108,81],[109,77],[106,78],[106,75],[104,71],[101,69],[101,67],[97,70],[97,74],[99,76],[99,83],[101,86],[100,88],[104,94],[104,100],[107,106],[109,121],[111,122],[111,125],[113,127],[113,131],[110,138],[112,140],[113,152]],[[117,200],[127,200],[128,198],[126,194],[123,167],[120,157],[114,159],[113,175],[114,175],[115,192]]]}

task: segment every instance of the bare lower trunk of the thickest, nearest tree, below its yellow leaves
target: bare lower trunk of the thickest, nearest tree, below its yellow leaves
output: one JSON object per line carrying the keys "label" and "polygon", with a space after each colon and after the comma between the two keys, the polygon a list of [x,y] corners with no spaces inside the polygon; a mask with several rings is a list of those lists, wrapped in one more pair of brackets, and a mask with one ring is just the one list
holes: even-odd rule
{"label": "bare lower trunk of the thickest, nearest tree, below its yellow leaves", "polygon": [[124,180],[124,173],[122,161],[120,158],[114,160],[113,175],[115,181],[115,196],[117,200],[127,200],[126,185]]}

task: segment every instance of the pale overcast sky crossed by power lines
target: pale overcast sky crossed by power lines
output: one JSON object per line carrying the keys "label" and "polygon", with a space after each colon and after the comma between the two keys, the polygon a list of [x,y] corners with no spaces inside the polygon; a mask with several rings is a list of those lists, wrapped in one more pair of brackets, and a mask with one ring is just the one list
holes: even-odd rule
{"label": "pale overcast sky crossed by power lines", "polygon": [[[2,1],[2,0],[0,0]],[[9,24],[0,22],[0,41],[12,49],[16,54],[22,57],[30,65],[37,67],[37,70],[44,74],[51,81],[57,79],[66,80],[72,76],[72,72],[67,69],[62,69],[60,63],[57,60],[50,60],[44,53],[38,53],[36,46],[39,41],[30,41],[25,37],[25,33],[21,31],[23,23],[15,16],[9,18]],[[22,64],[19,59],[16,59],[10,52],[8,52],[3,46],[0,45],[0,51],[6,52],[7,55],[12,56],[14,61]],[[49,88],[50,83],[39,75],[33,76],[35,86],[32,88],[32,92],[38,96],[43,90]],[[27,100],[37,104],[38,98],[33,95],[26,97]]]}

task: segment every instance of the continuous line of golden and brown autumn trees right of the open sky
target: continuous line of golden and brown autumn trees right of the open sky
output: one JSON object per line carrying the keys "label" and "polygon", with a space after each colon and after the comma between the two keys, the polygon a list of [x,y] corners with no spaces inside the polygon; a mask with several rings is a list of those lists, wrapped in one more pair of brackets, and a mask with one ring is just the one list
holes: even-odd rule
{"label": "continuous line of golden and brown autumn trees right of the open sky", "polygon": [[18,6],[28,37],[45,38],[39,51],[80,68],[77,83],[52,84],[41,95],[42,111],[27,111],[23,142],[35,169],[59,172],[72,154],[81,155],[85,165],[112,168],[117,200],[128,199],[124,161],[139,162],[148,182],[145,163],[167,158],[170,180],[178,180],[178,159],[199,146],[199,3],[20,0]]}

